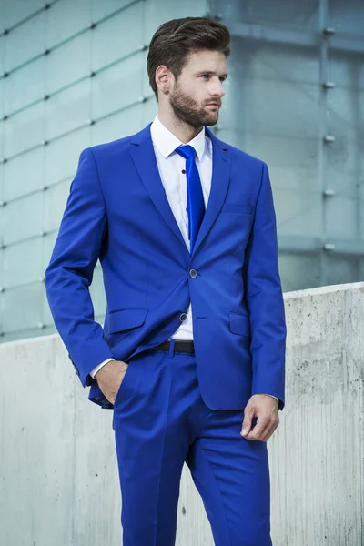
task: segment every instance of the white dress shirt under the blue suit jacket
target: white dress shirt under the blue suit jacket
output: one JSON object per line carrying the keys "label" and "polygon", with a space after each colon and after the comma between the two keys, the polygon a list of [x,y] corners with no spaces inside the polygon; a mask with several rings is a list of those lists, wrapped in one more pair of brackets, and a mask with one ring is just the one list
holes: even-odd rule
{"label": "white dress shirt under the blue suit jacket", "polygon": [[[188,250],[190,249],[190,243],[188,239],[188,214],[187,214],[187,177],[186,177],[186,159],[179,156],[175,149],[178,146],[183,145],[177,136],[173,135],[167,127],[165,127],[159,120],[158,116],[155,117],[152,125],[150,126],[150,134],[153,142],[154,151],[157,158],[157,167],[159,175],[161,177],[163,186],[166,190],[167,200],[169,206],[172,209],[173,214],[176,217],[177,225],[181,230],[183,238],[185,239]],[[197,136],[192,138],[188,142],[189,146],[196,149],[196,165],[201,179],[202,193],[205,201],[205,208],[207,207],[208,196],[211,188],[212,177],[212,142],[208,136],[205,135],[205,128],[203,127]],[[193,326],[192,326],[192,309],[191,302],[187,309],[187,319],[184,320],[173,334],[174,339],[193,339]],[[106,359],[96,368],[94,368],[90,375],[95,378],[96,371],[105,366],[106,362],[114,359]],[[273,395],[269,395],[273,396]],[[277,397],[273,397],[275,399]]]}

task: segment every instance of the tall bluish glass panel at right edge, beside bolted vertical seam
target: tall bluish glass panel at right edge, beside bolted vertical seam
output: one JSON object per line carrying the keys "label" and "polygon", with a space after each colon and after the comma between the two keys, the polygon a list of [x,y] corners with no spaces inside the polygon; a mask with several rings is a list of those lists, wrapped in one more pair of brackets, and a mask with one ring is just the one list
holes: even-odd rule
{"label": "tall bluish glass panel at right edge, beside bolted vertical seam", "polygon": [[328,132],[335,142],[325,147],[325,179],[326,186],[336,193],[327,199],[327,231],[331,237],[359,238],[363,230],[360,210],[364,208],[359,184],[364,129],[359,112],[363,110],[364,89],[359,89],[358,76],[364,65],[359,56],[337,55],[329,50],[329,69],[336,87],[327,92]]}

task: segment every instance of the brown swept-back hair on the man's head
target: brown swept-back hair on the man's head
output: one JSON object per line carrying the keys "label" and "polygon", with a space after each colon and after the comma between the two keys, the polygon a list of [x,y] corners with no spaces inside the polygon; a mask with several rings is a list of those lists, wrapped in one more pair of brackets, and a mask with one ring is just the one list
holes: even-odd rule
{"label": "brown swept-back hair on the man's head", "polygon": [[227,26],[208,17],[172,19],[160,25],[153,35],[147,56],[147,74],[158,102],[156,70],[165,65],[175,76],[180,76],[187,56],[198,50],[219,51],[230,55],[231,35]]}

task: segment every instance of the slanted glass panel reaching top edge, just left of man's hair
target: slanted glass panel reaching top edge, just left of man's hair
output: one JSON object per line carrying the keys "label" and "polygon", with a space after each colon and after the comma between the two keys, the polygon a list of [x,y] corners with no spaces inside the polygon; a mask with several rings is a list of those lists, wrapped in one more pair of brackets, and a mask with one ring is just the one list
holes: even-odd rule
{"label": "slanted glass panel reaching top edge, just left of man's hair", "polygon": [[143,43],[145,3],[140,2],[107,19],[92,31],[92,68],[97,70]]}

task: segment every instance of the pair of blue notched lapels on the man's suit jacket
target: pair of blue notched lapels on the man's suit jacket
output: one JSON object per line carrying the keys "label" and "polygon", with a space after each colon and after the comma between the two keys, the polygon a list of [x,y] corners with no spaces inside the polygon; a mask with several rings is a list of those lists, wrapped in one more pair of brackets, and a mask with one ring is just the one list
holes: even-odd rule
{"label": "pair of blue notched lapels on the man's suit jacket", "polygon": [[[150,123],[144,129],[142,129],[142,131],[133,136],[131,140],[130,155],[136,166],[139,177],[147,189],[149,197],[157,207],[161,217],[163,217],[164,221],[172,229],[176,237],[181,241],[189,256],[185,239],[183,238],[177,225],[175,215],[169,206],[166,191],[159,175],[157,158],[150,136],[151,125],[152,124]],[[198,231],[192,256],[194,256],[197,248],[207,236],[209,229],[212,227],[217,218],[217,214],[224,203],[231,170],[231,160],[227,152],[227,147],[225,147],[224,143],[211,133],[208,127],[205,127],[205,132],[207,136],[211,138],[213,146],[211,189],[207,201],[205,216],[203,217]]]}

